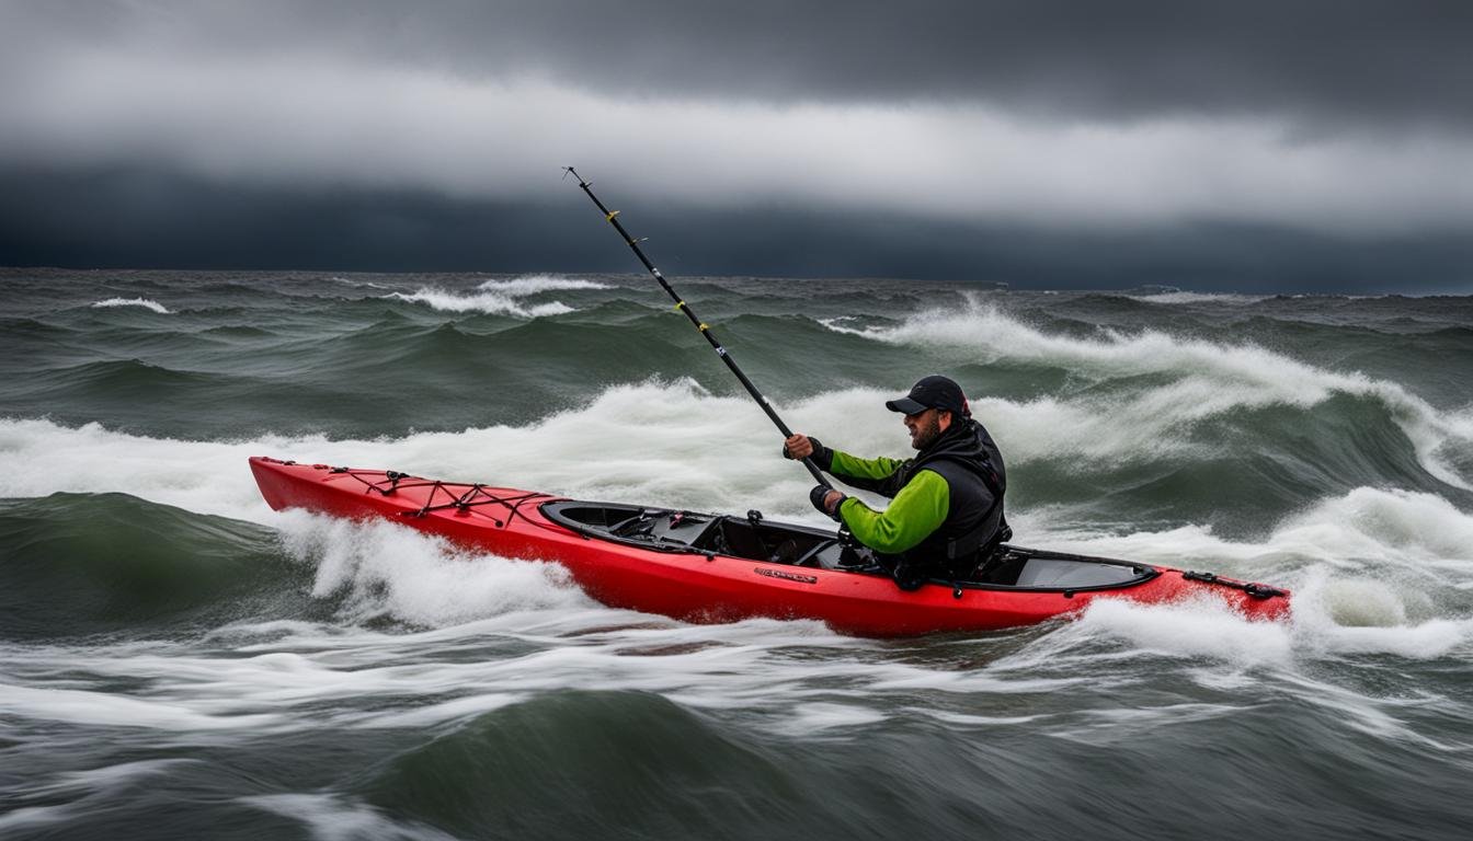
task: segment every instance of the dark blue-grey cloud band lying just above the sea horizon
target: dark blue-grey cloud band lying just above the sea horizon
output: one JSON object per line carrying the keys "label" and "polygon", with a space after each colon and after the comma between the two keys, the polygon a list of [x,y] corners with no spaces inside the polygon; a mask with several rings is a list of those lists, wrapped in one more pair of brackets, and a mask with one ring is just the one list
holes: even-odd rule
{"label": "dark blue-grey cloud band lying just above the sea horizon", "polygon": [[[146,172],[7,175],[0,253],[15,265],[340,271],[630,272],[572,181],[548,203],[430,193],[287,194]],[[549,177],[551,184],[557,180]],[[549,187],[552,189],[552,187]],[[21,209],[16,209],[19,206]],[[1028,289],[1234,292],[1469,289],[1461,234],[1365,240],[1193,224],[1131,233],[907,222],[785,208],[626,212],[672,275],[899,277]]]}

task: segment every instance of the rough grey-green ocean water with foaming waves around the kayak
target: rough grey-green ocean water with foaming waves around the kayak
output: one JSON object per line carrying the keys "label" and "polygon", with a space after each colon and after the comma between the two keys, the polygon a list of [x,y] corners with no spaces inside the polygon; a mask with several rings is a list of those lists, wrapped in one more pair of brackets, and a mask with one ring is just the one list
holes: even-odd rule
{"label": "rough grey-green ocean water with foaming waves around the kayak", "polygon": [[648,278],[0,270],[0,837],[1467,837],[1473,299],[675,283],[790,426],[950,374],[1016,542],[1293,622],[611,610],[246,457],[823,523]]}

